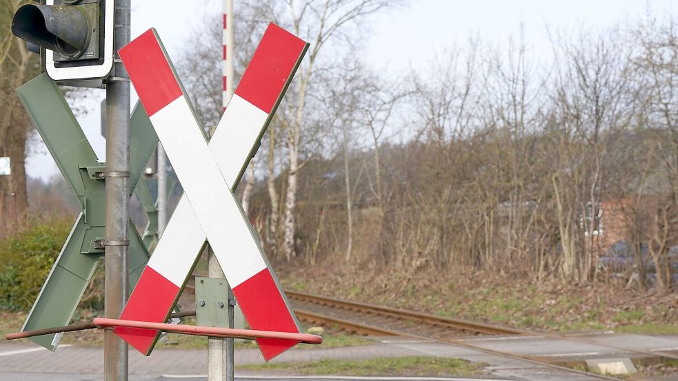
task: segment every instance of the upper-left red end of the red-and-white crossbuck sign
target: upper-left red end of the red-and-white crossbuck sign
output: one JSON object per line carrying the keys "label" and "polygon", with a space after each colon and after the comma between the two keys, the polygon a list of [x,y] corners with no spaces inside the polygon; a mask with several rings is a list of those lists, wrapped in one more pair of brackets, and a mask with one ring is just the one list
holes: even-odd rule
{"label": "upper-left red end of the red-and-white crossbuck sign", "polygon": [[181,96],[181,87],[153,28],[123,46],[119,54],[148,116]]}

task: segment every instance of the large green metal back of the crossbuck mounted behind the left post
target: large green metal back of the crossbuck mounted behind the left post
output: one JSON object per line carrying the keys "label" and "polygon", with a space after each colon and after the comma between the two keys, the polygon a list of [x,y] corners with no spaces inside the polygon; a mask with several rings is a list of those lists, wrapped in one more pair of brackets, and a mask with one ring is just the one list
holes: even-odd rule
{"label": "large green metal back of the crossbuck mounted behind the left post", "polygon": [[[104,164],[97,162],[97,155],[61,90],[47,74],[37,76],[19,87],[17,92],[57,167],[82,205],[82,212],[23,323],[21,331],[29,331],[68,325],[72,320],[104,252],[94,245],[94,240],[106,236],[106,183],[95,176],[103,172]],[[157,144],[158,138],[146,112],[137,105],[131,120],[130,195]],[[131,220],[128,236],[131,290],[146,266],[148,250]],[[60,334],[52,334],[30,340],[54,351],[60,338]]]}

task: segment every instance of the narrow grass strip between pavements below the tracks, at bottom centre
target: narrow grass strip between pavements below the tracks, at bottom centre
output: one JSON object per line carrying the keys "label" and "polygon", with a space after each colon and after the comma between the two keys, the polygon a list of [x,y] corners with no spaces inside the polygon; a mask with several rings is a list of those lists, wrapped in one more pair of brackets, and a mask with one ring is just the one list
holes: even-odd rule
{"label": "narrow grass strip between pavements below the tracks, at bottom centre", "polygon": [[412,356],[370,360],[319,360],[313,362],[245,364],[237,369],[250,371],[287,370],[302,375],[410,375],[475,377],[485,375],[486,364],[458,358]]}

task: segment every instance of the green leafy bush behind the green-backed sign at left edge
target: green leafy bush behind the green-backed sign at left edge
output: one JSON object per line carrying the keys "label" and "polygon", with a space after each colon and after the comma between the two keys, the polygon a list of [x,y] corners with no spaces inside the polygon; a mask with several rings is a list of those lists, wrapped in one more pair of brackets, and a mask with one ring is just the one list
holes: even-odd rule
{"label": "green leafy bush behind the green-backed sign at left edge", "polygon": [[0,241],[0,309],[28,311],[68,237],[67,220],[35,219]]}

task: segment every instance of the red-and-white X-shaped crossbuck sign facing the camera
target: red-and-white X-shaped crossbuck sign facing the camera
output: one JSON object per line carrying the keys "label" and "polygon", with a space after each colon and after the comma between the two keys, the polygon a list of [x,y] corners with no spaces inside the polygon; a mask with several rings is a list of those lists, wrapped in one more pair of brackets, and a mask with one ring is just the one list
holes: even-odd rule
{"label": "red-and-white X-shaped crossbuck sign facing the camera", "polygon": [[[184,191],[121,319],[165,322],[207,239],[250,328],[300,331],[233,192],[307,48],[278,25],[268,25],[209,143],[155,30],[119,51]],[[114,333],[147,356],[159,336],[123,327]],[[257,342],[266,361],[297,344]]]}

